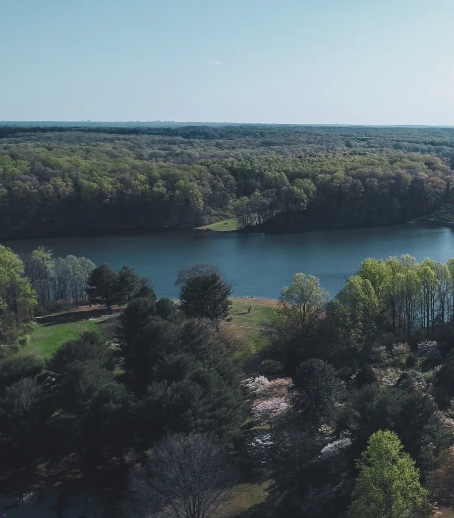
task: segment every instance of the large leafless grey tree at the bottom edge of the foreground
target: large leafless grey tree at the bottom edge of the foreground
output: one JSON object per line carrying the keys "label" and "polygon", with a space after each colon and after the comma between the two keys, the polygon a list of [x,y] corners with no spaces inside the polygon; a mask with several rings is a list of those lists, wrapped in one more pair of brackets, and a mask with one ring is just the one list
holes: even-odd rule
{"label": "large leafless grey tree at the bottom edge of the foreground", "polygon": [[133,515],[208,518],[230,498],[234,471],[211,437],[169,436],[146,456],[130,477],[125,507]]}

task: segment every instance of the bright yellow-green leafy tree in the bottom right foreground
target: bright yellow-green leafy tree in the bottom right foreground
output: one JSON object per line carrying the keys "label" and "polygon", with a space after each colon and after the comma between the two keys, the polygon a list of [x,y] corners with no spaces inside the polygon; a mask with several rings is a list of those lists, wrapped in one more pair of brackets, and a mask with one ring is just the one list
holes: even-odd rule
{"label": "bright yellow-green leafy tree in the bottom right foreground", "polygon": [[357,467],[353,518],[404,518],[423,506],[427,492],[419,482],[419,470],[391,431],[378,430],[371,436]]}

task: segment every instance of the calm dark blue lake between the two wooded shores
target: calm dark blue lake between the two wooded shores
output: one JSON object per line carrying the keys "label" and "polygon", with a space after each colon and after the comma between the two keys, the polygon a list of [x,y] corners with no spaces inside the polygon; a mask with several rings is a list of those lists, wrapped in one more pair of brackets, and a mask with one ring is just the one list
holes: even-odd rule
{"label": "calm dark blue lake between the two wooded shores", "polygon": [[235,234],[175,231],[145,236],[4,240],[16,253],[45,246],[55,256],[73,254],[96,265],[133,267],[151,279],[159,297],[178,295],[178,270],[196,263],[217,265],[234,284],[234,296],[277,298],[297,272],[315,275],[335,295],[366,257],[408,253],[418,261],[454,256],[454,231],[418,224],[314,231],[302,234]]}

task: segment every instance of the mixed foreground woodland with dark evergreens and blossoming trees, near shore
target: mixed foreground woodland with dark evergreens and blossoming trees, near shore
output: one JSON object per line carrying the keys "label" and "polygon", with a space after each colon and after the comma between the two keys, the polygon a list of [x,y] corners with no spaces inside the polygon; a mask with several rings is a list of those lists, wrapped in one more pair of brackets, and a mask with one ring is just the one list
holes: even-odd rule
{"label": "mixed foreground woodland with dark evergreens and blossoming trees, near shore", "polygon": [[[227,515],[450,516],[454,258],[366,258],[333,298],[297,273],[252,351],[216,266],[176,283],[178,301],[127,265],[0,247],[0,492],[49,465],[137,517],[222,516],[244,484],[263,498]],[[109,326],[23,351],[76,303]]]}

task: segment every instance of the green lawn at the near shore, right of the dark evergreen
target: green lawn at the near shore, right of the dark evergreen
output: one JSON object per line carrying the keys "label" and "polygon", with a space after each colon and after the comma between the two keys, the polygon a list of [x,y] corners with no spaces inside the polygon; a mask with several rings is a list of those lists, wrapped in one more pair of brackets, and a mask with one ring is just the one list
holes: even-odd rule
{"label": "green lawn at the near shore, right of the dark evergreen", "polygon": [[[248,313],[248,305],[253,308]],[[261,327],[263,321],[267,320],[275,309],[275,301],[263,299],[234,298],[230,310],[231,324],[240,330],[244,336],[250,338],[254,349],[259,351],[268,342],[263,336]]]}

